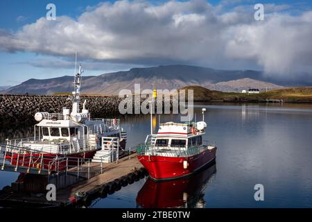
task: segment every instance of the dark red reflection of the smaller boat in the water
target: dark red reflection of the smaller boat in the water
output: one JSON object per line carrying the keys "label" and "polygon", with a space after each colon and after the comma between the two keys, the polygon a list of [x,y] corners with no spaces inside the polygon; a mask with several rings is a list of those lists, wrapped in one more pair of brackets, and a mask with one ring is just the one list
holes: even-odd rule
{"label": "dark red reflection of the smaller boat in the water", "polygon": [[137,206],[144,208],[203,208],[207,182],[216,173],[216,164],[191,177],[164,182],[148,178],[137,194]]}

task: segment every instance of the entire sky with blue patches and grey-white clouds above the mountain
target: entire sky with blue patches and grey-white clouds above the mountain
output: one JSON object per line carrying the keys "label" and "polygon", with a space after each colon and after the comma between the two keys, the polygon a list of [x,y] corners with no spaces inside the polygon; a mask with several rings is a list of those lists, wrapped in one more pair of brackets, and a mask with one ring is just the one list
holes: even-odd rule
{"label": "entire sky with blue patches and grey-white clouds above the mountain", "polygon": [[[256,3],[264,20],[254,19]],[[87,76],[183,64],[312,79],[309,0],[1,0],[0,8],[0,86],[73,75],[76,51]]]}

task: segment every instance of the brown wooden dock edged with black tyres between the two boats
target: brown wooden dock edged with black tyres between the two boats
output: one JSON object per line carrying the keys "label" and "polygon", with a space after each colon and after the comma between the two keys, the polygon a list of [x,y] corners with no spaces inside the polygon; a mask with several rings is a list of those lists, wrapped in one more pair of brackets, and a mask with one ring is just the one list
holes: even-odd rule
{"label": "brown wooden dock edged with black tyres between the two boats", "polygon": [[[98,163],[92,164],[89,169],[101,169]],[[47,201],[46,194],[29,195],[22,192],[4,192],[0,194],[1,205],[20,205],[27,203],[29,206],[54,206],[68,207],[80,203],[91,202],[99,196],[112,194],[114,191],[131,184],[147,175],[144,167],[137,160],[137,154],[125,156],[118,163],[105,164],[103,172],[83,180],[75,185],[56,191],[56,201]],[[68,173],[70,170],[68,171]],[[83,173],[83,172],[81,172]]]}

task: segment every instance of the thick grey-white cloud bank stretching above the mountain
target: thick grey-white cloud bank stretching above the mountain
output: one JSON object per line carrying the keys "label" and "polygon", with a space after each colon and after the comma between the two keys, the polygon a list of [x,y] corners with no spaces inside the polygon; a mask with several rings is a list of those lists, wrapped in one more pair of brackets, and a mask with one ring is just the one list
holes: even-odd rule
{"label": "thick grey-white cloud bank stretching above the mountain", "polygon": [[268,4],[258,22],[253,7],[225,10],[205,0],[101,3],[77,19],[42,17],[16,33],[0,30],[0,50],[64,57],[78,50],[95,62],[258,67],[268,76],[312,78],[312,11],[292,15],[291,6]]}

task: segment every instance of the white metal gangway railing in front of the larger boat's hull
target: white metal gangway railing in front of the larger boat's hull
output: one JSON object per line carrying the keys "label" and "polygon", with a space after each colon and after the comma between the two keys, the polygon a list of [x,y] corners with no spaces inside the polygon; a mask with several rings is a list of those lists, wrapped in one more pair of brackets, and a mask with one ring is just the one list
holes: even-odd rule
{"label": "white metal gangway railing in front of the larger boat's hull", "polygon": [[51,155],[42,151],[0,144],[0,171],[50,175],[70,173],[78,178],[92,178],[103,173],[105,165],[85,157]]}

